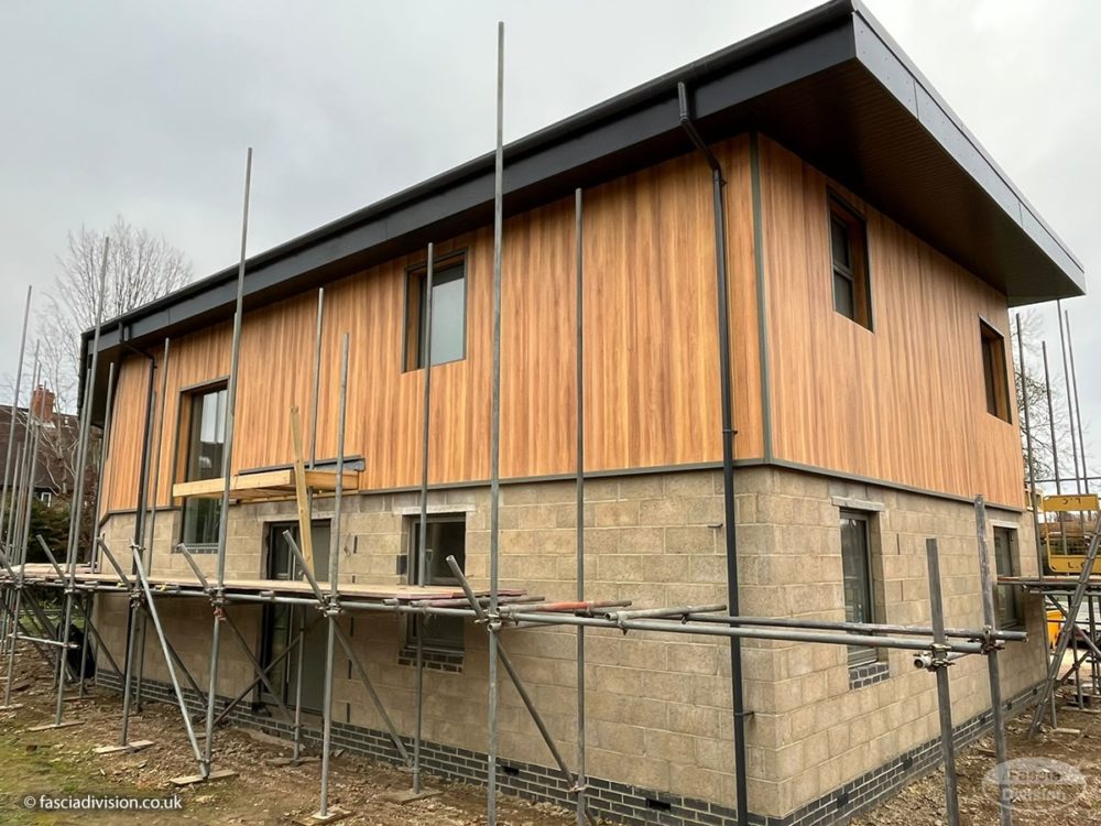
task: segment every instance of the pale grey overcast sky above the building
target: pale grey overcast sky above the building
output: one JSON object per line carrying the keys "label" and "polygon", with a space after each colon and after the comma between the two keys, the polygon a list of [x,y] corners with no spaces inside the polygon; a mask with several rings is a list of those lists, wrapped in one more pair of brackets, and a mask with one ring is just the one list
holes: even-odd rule
{"label": "pale grey overcast sky above the building", "polygon": [[[815,4],[7,0],[0,372],[69,230],[121,214],[196,276],[232,264],[248,145],[253,253],[491,149],[498,20],[512,140]],[[1101,6],[868,4],[1101,284]],[[1065,306],[1089,422],[1101,287]]]}

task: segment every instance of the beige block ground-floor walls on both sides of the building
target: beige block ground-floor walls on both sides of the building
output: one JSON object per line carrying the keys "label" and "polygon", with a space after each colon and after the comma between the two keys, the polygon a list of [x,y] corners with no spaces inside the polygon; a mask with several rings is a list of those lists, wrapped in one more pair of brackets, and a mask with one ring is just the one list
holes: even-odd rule
{"label": "beige block ground-floor walls on both sides of the building", "polygon": [[[744,468],[735,474],[740,610],[750,616],[843,619],[839,502],[873,511],[882,619],[927,623],[925,539],[940,540],[949,624],[981,626],[973,509],[966,502],[854,485],[796,470]],[[586,483],[586,596],[629,599],[635,607],[726,604],[721,474],[717,470],[590,479]],[[342,508],[341,580],[397,584],[416,493],[359,494]],[[466,570],[476,588],[489,583],[487,488],[433,491],[430,510],[466,517]],[[331,513],[319,499],[315,515]],[[1021,521],[1022,569],[1035,567],[1031,531]],[[501,585],[550,599],[575,596],[575,490],[571,481],[505,485],[501,498]],[[266,522],[294,519],[293,503],[238,506],[230,519],[229,578],[263,572]],[[129,543],[132,518],[112,518],[108,534]],[[189,577],[170,552],[177,514],[157,517],[154,575]],[[111,540],[109,539],[109,542]],[[212,573],[215,557],[199,563]],[[100,600],[112,650],[124,642],[124,600]],[[162,600],[174,644],[205,687],[210,613],[200,598]],[[171,608],[168,608],[171,606]],[[1037,605],[1028,609],[1034,641],[1042,640]],[[242,630],[259,639],[259,611],[230,608]],[[171,619],[168,619],[171,613]],[[109,615],[109,619],[108,619]],[[121,620],[121,628],[119,621]],[[356,613],[341,622],[403,732],[413,729],[414,670],[405,664],[401,619]],[[146,674],[166,680],[150,633]],[[486,747],[486,634],[467,624],[461,667],[429,669],[425,678],[425,738],[473,752]],[[576,642],[567,628],[506,630],[510,651],[565,754],[574,753]],[[730,655],[726,640],[590,630],[587,632],[588,769],[591,775],[656,793],[733,807],[734,770]],[[236,694],[251,681],[244,656],[224,646],[219,692]],[[850,687],[838,646],[745,640],[743,672],[748,776],[752,811],[784,817],[799,806],[936,736],[935,685],[902,652],[884,656],[887,674]],[[1015,645],[1003,656],[1005,696],[1043,675],[1042,642]],[[338,649],[336,719],[382,728],[363,687]],[[502,680],[504,680],[502,677]],[[958,720],[989,705],[983,663],[952,666]],[[520,697],[502,682],[500,745],[505,764],[549,765],[549,756]]]}

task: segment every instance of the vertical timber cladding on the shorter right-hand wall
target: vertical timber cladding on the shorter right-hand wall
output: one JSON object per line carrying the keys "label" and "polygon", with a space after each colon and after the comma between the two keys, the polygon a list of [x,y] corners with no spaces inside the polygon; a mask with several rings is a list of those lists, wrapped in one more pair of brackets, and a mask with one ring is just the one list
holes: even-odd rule
{"label": "vertical timber cladding on the shorter right-hand wall", "polygon": [[[1023,507],[979,337],[983,318],[1009,345],[1005,296],[763,137],[761,176],[777,459]],[[830,189],[866,221],[872,330],[833,311]]]}

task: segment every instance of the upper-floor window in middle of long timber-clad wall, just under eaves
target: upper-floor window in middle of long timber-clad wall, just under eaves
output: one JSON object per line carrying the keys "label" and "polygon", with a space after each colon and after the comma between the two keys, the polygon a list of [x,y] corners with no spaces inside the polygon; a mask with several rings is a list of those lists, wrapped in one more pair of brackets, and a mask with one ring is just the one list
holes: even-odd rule
{"label": "upper-floor window in middle of long timber-clad wall, just under eaves", "polygon": [[[405,369],[419,370],[426,363],[425,289],[427,270],[408,273],[405,287]],[[451,258],[437,262],[432,274],[432,363],[443,365],[466,358],[467,279],[466,262]]]}

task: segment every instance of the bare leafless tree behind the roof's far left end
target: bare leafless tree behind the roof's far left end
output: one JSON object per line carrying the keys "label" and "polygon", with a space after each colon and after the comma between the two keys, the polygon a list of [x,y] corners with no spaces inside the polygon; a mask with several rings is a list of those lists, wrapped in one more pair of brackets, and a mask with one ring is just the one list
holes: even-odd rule
{"label": "bare leafless tree behind the roof's far left end", "polygon": [[81,227],[68,233],[59,270],[36,315],[42,340],[43,383],[56,395],[57,409],[72,412],[79,405],[80,334],[96,323],[103,239],[110,237],[103,318],[110,319],[178,290],[192,280],[187,257],[164,238],[133,227],[118,216],[101,232]]}

